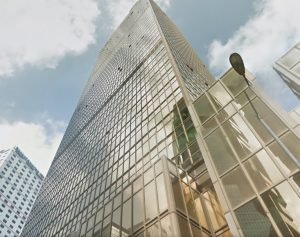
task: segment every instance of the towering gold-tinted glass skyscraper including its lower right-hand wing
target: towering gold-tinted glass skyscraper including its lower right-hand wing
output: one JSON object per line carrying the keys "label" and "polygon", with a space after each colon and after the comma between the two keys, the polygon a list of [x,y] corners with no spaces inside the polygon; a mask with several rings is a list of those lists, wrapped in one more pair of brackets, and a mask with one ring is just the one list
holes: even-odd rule
{"label": "towering gold-tinted glass skyscraper including its lower right-hand wing", "polygon": [[140,0],[100,53],[22,236],[299,236],[289,124],[232,69],[214,81]]}

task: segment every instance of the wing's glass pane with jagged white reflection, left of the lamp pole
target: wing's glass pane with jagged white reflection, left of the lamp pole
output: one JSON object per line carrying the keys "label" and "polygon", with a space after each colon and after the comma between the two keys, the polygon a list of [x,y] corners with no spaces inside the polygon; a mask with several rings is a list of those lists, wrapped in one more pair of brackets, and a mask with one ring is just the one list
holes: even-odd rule
{"label": "wing's glass pane with jagged white reflection, left of the lamp pole", "polygon": [[240,115],[229,119],[223,128],[240,160],[260,148],[260,143]]}

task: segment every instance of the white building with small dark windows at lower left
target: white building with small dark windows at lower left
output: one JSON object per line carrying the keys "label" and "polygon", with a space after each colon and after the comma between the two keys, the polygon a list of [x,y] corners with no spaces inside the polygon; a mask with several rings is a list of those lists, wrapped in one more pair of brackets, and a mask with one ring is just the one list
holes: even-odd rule
{"label": "white building with small dark windows at lower left", "polygon": [[43,175],[18,147],[0,151],[0,236],[19,236]]}

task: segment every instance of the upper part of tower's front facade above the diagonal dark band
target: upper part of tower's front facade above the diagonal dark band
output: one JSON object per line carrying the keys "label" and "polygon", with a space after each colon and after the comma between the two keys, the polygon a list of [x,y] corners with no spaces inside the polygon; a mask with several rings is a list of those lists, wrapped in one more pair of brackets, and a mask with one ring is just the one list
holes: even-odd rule
{"label": "upper part of tower's front facade above the diagonal dark band", "polygon": [[57,157],[152,54],[160,41],[147,1],[139,1],[101,51]]}

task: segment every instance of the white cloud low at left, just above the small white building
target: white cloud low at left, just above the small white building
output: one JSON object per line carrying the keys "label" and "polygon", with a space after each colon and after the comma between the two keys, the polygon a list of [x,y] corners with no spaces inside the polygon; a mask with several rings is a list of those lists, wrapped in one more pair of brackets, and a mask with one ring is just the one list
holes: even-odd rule
{"label": "white cloud low at left, just above the small white building", "polygon": [[0,150],[17,145],[45,175],[60,144],[65,126],[65,123],[49,118],[43,123],[0,121]]}

